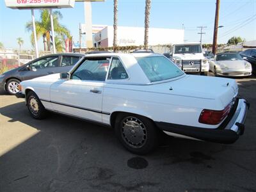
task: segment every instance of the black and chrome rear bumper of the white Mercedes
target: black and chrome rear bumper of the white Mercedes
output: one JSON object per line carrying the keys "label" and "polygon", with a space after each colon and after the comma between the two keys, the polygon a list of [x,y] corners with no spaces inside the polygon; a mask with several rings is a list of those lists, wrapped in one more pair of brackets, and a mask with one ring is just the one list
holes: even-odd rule
{"label": "black and chrome rear bumper of the white Mercedes", "polygon": [[175,133],[181,136],[215,143],[234,143],[244,133],[244,122],[249,106],[249,103],[245,99],[237,99],[233,111],[230,112],[227,120],[217,129],[205,129],[202,127],[191,127],[166,122],[156,122],[156,125],[166,133]]}

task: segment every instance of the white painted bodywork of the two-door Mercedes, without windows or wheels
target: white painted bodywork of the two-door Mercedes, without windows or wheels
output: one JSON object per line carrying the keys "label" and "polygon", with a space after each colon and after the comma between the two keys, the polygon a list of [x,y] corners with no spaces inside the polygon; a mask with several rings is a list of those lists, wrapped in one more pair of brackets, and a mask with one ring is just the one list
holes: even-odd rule
{"label": "white painted bodywork of the two-door Mercedes, without windows or wheels", "polygon": [[[129,78],[99,82],[63,80],[60,79],[60,74],[52,74],[22,81],[22,93],[26,94],[26,90],[33,90],[46,109],[107,125],[113,123],[113,113],[122,111],[147,116],[154,122],[205,129],[216,129],[221,122],[218,125],[199,123],[198,118],[202,110],[221,111],[233,102],[238,93],[234,79],[220,77],[183,74],[166,81],[150,83],[134,56],[159,56],[158,54],[105,53],[92,56],[120,58]],[[76,70],[77,65],[79,63],[70,70],[70,73]],[[95,89],[99,92],[92,92]],[[242,103],[240,105],[245,114],[246,109]],[[241,121],[243,115],[240,115]],[[179,136],[177,133],[169,134],[191,138]]]}

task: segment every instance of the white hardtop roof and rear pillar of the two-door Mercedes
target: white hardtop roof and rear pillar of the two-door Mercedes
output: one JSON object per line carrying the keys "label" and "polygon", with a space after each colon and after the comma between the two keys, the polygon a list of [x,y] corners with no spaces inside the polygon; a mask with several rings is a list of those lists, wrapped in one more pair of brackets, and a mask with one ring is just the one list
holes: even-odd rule
{"label": "white hardtop roof and rear pillar of the two-door Mercedes", "polygon": [[122,83],[122,84],[151,84],[148,77],[143,72],[142,68],[138,64],[136,57],[148,57],[148,56],[163,56],[156,53],[116,53],[116,52],[102,52],[86,54],[84,58],[93,57],[118,57],[122,61],[125,70],[129,76],[128,79],[107,80],[106,83]]}

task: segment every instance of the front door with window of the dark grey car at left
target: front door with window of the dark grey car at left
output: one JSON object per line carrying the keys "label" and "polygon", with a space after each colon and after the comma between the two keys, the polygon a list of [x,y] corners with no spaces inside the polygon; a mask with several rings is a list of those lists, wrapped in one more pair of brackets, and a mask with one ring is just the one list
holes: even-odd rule
{"label": "front door with window of the dark grey car at left", "polygon": [[28,67],[20,72],[20,78],[22,81],[33,79],[35,77],[47,76],[54,74],[59,65],[58,56],[49,56],[35,60],[28,64]]}

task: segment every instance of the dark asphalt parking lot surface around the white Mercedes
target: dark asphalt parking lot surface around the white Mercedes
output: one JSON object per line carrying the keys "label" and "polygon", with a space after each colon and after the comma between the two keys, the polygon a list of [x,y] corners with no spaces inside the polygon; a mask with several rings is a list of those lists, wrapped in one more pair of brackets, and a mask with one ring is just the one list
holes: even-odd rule
{"label": "dark asphalt parking lot surface around the white Mercedes", "polygon": [[23,99],[0,95],[0,191],[256,191],[256,79],[237,79],[250,102],[232,145],[163,137],[136,156],[113,129],[50,113],[31,118]]}

